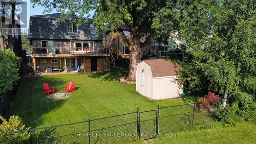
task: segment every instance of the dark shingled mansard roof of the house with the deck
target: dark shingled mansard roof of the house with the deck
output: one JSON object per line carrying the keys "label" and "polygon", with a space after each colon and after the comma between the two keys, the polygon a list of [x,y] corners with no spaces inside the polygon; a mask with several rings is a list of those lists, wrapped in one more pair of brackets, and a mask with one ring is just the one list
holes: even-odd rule
{"label": "dark shingled mansard roof of the house with the deck", "polygon": [[102,33],[91,34],[90,24],[82,23],[77,34],[68,33],[67,22],[61,22],[61,13],[30,16],[29,38],[31,39],[68,39],[68,40],[102,40]]}

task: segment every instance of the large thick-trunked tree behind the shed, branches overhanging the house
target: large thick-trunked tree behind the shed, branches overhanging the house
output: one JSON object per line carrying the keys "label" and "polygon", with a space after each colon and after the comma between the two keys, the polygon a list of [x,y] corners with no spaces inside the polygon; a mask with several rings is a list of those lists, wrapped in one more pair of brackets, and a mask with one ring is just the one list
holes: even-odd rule
{"label": "large thick-trunked tree behind the shed, branches overhanging the house", "polygon": [[[96,30],[115,31],[121,34],[123,42],[129,46],[130,55],[130,71],[127,80],[135,80],[137,64],[141,61],[144,50],[151,45],[156,37],[156,31],[152,29],[155,13],[165,7],[167,1],[153,0],[110,0],[110,1],[32,1],[34,5],[38,4],[46,7],[49,12],[56,9],[58,12],[67,12],[63,15],[63,19],[72,16],[72,21],[79,25],[79,20],[83,16],[91,16],[94,12],[94,25]],[[173,2],[173,7],[176,1]],[[78,15],[78,16],[75,16]],[[126,25],[130,30],[131,39],[127,39],[120,27]],[[155,23],[160,25],[160,23]],[[168,26],[172,27],[173,23]],[[157,26],[155,26],[157,27]],[[144,37],[145,42],[140,43],[140,38]]]}

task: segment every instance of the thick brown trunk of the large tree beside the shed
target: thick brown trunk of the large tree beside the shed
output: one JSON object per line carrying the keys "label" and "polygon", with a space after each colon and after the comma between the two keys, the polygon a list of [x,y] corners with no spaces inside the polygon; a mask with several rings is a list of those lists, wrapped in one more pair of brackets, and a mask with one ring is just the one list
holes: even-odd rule
{"label": "thick brown trunk of the large tree beside the shed", "polygon": [[134,81],[136,79],[136,69],[138,63],[141,61],[142,58],[142,50],[140,49],[140,45],[131,45],[130,46],[131,55],[130,55],[130,71],[129,75],[127,76],[126,80]]}

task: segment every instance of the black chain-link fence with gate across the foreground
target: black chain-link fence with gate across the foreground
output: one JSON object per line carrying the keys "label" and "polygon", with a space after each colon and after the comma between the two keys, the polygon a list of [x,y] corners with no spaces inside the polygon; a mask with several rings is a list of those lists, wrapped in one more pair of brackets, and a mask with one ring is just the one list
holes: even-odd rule
{"label": "black chain-link fence with gate across the foreground", "polygon": [[[45,128],[30,129],[26,143],[133,143],[166,134],[177,134],[204,123],[204,104],[184,104],[157,107],[156,110],[139,111],[88,119],[88,121]],[[24,132],[24,131],[20,131]]]}

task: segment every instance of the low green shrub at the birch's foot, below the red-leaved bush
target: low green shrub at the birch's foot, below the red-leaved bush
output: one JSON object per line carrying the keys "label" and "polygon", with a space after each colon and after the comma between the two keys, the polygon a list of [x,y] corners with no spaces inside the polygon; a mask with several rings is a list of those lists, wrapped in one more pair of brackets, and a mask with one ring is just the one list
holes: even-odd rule
{"label": "low green shrub at the birch's foot, below the red-leaved bush", "polygon": [[215,112],[216,118],[223,123],[223,125],[236,125],[241,119],[237,115],[239,111],[238,103],[227,104],[223,109],[222,104],[219,103]]}

